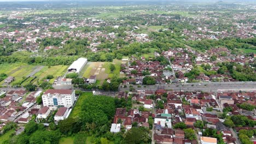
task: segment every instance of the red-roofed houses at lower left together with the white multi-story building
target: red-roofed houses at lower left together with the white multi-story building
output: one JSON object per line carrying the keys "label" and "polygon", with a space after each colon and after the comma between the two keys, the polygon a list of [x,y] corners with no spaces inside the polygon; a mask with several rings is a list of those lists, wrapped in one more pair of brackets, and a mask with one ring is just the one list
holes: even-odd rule
{"label": "red-roofed houses at lower left together with the white multi-story building", "polygon": [[[49,89],[27,92],[24,90],[1,91],[0,98],[0,130],[7,122],[28,123],[33,115],[37,122],[46,122],[49,116],[54,115],[54,121],[58,122],[69,116],[72,106],[77,99],[72,89]],[[42,105],[36,104],[36,99],[42,95]]]}

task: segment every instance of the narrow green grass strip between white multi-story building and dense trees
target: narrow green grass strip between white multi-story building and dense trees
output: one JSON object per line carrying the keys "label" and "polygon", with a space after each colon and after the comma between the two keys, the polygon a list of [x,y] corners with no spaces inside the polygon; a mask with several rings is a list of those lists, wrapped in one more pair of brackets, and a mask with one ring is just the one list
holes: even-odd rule
{"label": "narrow green grass strip between white multi-story building and dense trees", "polygon": [[92,95],[92,92],[84,92],[82,95],[80,95],[77,100],[77,103],[75,103],[75,106],[73,107],[73,110],[71,111],[69,117],[77,116],[82,110],[81,106],[83,105],[84,100],[91,95]]}

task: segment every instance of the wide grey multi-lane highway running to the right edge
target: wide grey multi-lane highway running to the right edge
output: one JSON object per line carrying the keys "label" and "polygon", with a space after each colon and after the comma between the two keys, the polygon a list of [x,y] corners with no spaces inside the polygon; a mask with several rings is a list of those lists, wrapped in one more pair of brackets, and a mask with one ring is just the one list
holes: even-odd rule
{"label": "wide grey multi-lane highway running to the right edge", "polygon": [[[256,91],[256,82],[197,82],[188,83],[187,86],[182,86],[179,83],[162,84],[162,85],[149,85],[137,87],[132,85],[136,90],[152,90],[156,89],[170,89],[173,91],[204,91],[204,92],[216,92],[216,91]],[[120,91],[129,91],[129,86],[126,88],[120,87]]]}

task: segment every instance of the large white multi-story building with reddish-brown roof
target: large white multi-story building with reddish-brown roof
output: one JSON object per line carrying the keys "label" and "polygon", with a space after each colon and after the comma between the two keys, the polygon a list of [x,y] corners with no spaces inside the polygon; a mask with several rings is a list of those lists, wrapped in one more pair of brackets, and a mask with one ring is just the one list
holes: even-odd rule
{"label": "large white multi-story building with reddish-brown roof", "polygon": [[71,107],[75,101],[75,93],[72,89],[48,89],[42,95],[44,106]]}

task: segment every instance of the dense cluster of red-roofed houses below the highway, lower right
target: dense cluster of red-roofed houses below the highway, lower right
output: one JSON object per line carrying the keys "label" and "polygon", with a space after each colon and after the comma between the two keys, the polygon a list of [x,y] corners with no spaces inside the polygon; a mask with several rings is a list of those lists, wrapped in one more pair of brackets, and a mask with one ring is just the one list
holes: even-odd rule
{"label": "dense cluster of red-roofed houses below the highway, lower right", "polygon": [[[155,108],[153,112],[138,111],[132,109],[118,108],[115,113],[111,130],[117,133],[121,128],[130,129],[133,122],[138,122],[139,126],[147,127],[148,116],[154,119],[154,141],[156,143],[217,143],[214,137],[202,136],[203,131],[194,126],[196,121],[206,122],[204,129],[217,129],[223,134],[225,143],[236,143],[236,135],[231,133],[228,127],[223,124],[224,119],[219,117],[219,111],[225,107],[232,107],[232,111],[227,115],[243,115],[253,121],[256,120],[256,111],[243,110],[236,104],[248,103],[256,105],[255,92],[173,92],[158,89],[156,91],[119,92],[118,98],[128,98],[131,95],[133,101],[141,103],[144,108],[153,109],[158,106],[158,101],[164,102],[164,109]],[[155,95],[154,99],[148,99],[150,95]],[[153,97],[152,97],[153,98]],[[210,109],[209,109],[210,108]],[[147,113],[147,115],[145,115]],[[192,128],[197,135],[197,140],[185,139],[184,130],[174,129],[174,125],[183,122],[187,128]],[[235,127],[237,133],[241,129],[251,129],[250,127]]]}

